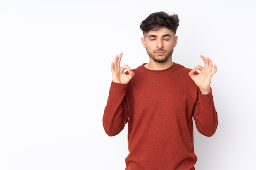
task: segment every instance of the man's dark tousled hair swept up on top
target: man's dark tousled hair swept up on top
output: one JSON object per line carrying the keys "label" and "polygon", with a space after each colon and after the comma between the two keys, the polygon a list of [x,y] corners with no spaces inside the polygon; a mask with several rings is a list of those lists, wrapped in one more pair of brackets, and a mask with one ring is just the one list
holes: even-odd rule
{"label": "man's dark tousled hair swept up on top", "polygon": [[179,22],[180,19],[178,15],[169,15],[168,13],[161,11],[151,13],[145,20],[141,22],[139,28],[144,36],[148,33],[148,31],[156,31],[162,27],[172,30],[175,34],[179,26]]}

